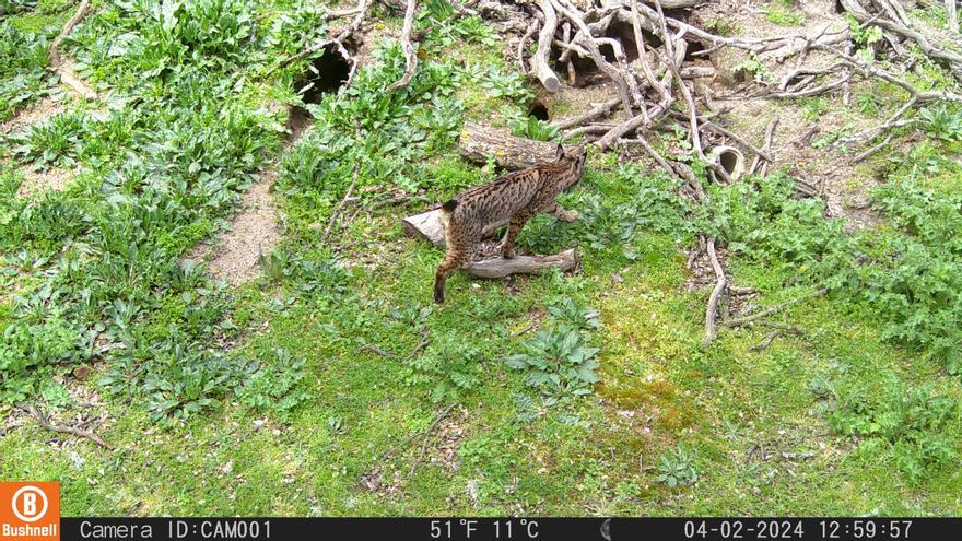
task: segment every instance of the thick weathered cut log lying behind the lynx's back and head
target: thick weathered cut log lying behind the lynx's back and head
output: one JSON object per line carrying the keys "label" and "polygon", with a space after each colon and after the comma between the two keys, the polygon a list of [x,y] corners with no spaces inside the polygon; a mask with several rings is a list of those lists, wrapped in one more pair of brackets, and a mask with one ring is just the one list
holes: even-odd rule
{"label": "thick weathered cut log lying behind the lynx's back and head", "polygon": [[494,163],[509,170],[553,162],[556,149],[554,143],[521,139],[508,130],[476,124],[465,125],[458,144],[467,160],[483,164],[493,156]]}

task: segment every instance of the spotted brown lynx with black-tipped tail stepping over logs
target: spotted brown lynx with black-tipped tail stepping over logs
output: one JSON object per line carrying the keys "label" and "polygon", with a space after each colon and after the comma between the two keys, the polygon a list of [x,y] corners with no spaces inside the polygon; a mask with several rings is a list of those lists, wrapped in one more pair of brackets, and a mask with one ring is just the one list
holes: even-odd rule
{"label": "spotted brown lynx with black-tipped tail stepping over logs", "polygon": [[559,144],[553,163],[508,173],[444,203],[441,221],[446,248],[444,261],[434,274],[434,302],[444,304],[447,277],[470,262],[486,227],[511,219],[501,246],[502,256],[511,259],[515,257],[518,232],[536,214],[544,212],[564,222],[574,222],[578,217],[577,211],[562,209],[554,198],[582,179],[585,157],[584,149],[566,154]]}

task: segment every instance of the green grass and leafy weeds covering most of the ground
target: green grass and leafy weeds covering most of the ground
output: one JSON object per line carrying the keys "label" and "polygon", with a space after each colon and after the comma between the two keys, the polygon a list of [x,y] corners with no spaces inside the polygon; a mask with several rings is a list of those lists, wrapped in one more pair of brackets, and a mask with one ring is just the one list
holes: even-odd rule
{"label": "green grass and leafy weeds covering most of the ground", "polygon": [[[423,203],[360,212],[330,243],[316,224],[355,167],[361,200],[348,215],[398,190],[444,200],[493,177],[458,156],[457,132],[468,119],[508,125],[532,92],[491,52],[491,31],[432,31],[419,74],[391,95],[380,90],[403,58],[386,43],[281,151],[285,119],[268,106],[296,103],[304,66],[266,73],[324,32],[324,8],[179,9],[226,13],[218,24],[245,37],[211,33],[192,57],[198,28],[104,5],[71,52],[119,108],[94,118],[74,107],[13,136],[12,166],[86,173],[26,198],[12,166],[0,175],[0,413],[20,400],[55,419],[105,412],[95,430],[116,450],[50,445],[59,436],[20,417],[0,437],[11,457],[0,479],[60,481],[66,515],[962,510],[955,110],[932,117],[911,153],[873,158],[887,223],[856,235],[794,199],[781,175],[706,186],[711,203],[695,209],[674,180],[596,153],[561,198],[578,222],[539,216],[519,238],[523,251],[577,247],[577,272],[456,274],[438,307],[442,254],[399,225]],[[117,39],[133,33],[146,43]],[[261,278],[212,283],[180,259],[223,228],[262,167],[279,172],[282,244]],[[731,282],[758,290],[755,308],[831,293],[779,311],[773,321],[801,332],[763,351],[752,348],[764,326],[723,328],[703,345],[708,291],[687,284],[683,251],[703,233],[727,248]],[[548,393],[505,362],[530,352],[532,325],[576,325],[599,349],[590,393]],[[93,367],[85,381],[70,376],[79,364]]]}

